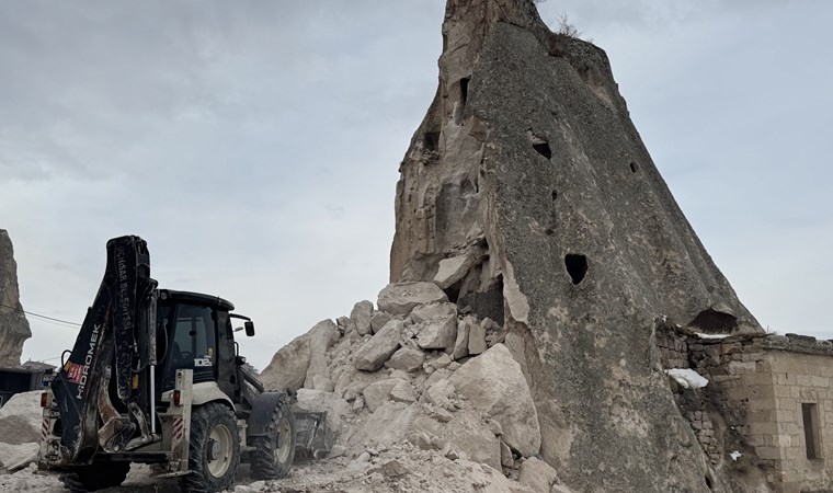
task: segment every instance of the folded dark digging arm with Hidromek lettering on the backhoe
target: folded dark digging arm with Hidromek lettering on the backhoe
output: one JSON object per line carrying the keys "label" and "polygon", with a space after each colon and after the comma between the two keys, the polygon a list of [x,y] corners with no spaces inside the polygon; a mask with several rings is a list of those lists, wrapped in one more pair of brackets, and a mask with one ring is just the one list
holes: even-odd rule
{"label": "folded dark digging arm with Hidromek lettering on the backhoe", "polygon": [[[147,423],[153,399],[156,288],[147,243],[133,236],[110,240],[104,279],[52,383],[62,425],[60,462],[87,463],[99,447],[119,451],[153,439]],[[152,415],[150,422],[152,428]]]}

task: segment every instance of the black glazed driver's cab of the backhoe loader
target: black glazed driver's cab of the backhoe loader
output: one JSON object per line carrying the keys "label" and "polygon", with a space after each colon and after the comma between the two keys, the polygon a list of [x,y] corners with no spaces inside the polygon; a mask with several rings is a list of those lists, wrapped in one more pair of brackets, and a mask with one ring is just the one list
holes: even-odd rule
{"label": "black glazed driver's cab of the backhoe loader", "polygon": [[160,289],[157,305],[157,388],[173,389],[176,370],[194,370],[194,383],[216,381],[232,401],[239,395],[231,302],[216,296]]}

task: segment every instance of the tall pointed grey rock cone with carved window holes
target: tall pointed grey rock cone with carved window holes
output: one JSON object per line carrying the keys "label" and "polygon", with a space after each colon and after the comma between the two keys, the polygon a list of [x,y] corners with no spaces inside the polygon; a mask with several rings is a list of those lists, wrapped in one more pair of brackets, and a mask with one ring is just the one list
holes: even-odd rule
{"label": "tall pointed grey rock cone with carved window holes", "polygon": [[720,490],[667,390],[658,321],[761,331],[674,202],[605,53],[532,0],[448,0],[440,87],[401,163],[391,282],[509,329],[540,452],[580,491]]}

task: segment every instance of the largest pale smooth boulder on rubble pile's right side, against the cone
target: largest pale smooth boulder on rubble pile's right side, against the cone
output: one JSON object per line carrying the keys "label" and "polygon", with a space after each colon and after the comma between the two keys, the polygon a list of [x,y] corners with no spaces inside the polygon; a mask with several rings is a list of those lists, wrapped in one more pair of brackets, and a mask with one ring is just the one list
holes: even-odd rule
{"label": "largest pale smooth boulder on rubble pile's right side, against the cone", "polygon": [[500,423],[506,445],[524,457],[538,454],[538,413],[521,365],[503,344],[466,362],[449,381],[457,393]]}

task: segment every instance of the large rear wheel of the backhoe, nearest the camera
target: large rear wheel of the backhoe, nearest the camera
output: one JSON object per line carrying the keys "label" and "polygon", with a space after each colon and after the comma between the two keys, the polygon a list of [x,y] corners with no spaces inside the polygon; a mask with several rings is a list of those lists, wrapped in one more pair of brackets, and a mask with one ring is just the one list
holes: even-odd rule
{"label": "large rear wheel of the backhoe, nearest the camera", "polygon": [[212,402],[191,412],[189,469],[182,478],[186,492],[218,492],[235,482],[240,463],[240,440],[235,413]]}

